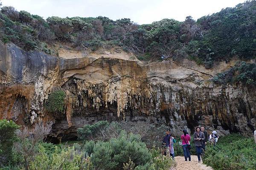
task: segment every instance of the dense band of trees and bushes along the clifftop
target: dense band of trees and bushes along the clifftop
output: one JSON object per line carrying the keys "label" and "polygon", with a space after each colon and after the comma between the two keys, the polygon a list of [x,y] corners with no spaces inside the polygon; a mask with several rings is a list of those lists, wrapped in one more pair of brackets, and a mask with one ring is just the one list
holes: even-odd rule
{"label": "dense band of trees and bushes along the clifftop", "polygon": [[13,7],[3,7],[0,39],[26,50],[43,50],[41,41],[64,41],[86,52],[95,51],[107,41],[136,53],[142,60],[162,55],[175,61],[189,58],[210,69],[214,61],[256,56],[255,7],[256,1],[252,0],[197,21],[188,16],[184,22],[163,19],[145,25],[137,25],[129,18],[114,21],[102,16],[44,20],[25,11],[17,12]]}

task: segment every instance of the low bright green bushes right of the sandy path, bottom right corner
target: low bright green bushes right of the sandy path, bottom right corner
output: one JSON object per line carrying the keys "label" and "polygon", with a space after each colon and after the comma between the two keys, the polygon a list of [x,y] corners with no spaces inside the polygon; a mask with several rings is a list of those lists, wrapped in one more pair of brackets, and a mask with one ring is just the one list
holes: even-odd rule
{"label": "low bright green bushes right of the sandy path, bottom right corner", "polygon": [[228,135],[208,146],[203,160],[215,170],[255,170],[256,145],[252,138]]}

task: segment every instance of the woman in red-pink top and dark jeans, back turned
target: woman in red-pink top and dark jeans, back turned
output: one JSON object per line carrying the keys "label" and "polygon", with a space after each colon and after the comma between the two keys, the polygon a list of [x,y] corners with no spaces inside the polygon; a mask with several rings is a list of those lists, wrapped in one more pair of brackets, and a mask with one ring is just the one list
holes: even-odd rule
{"label": "woman in red-pink top and dark jeans, back turned", "polygon": [[191,145],[189,144],[190,141],[190,136],[187,130],[183,130],[183,135],[180,136],[181,141],[182,141],[182,149],[184,152],[184,157],[185,161],[189,158],[189,161],[191,161],[191,156],[190,156],[190,149]]}

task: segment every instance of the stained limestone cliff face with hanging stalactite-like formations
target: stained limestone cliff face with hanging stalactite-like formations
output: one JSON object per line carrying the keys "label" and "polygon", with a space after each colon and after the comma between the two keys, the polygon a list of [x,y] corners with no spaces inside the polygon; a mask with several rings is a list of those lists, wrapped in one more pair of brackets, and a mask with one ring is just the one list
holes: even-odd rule
{"label": "stained limestone cliff face with hanging stalactite-like formations", "polygon": [[[143,63],[124,53],[57,58],[0,43],[0,118],[29,127],[52,121],[52,140],[74,138],[78,127],[99,120],[166,124],[175,135],[198,125],[220,134],[255,129],[256,88],[209,81],[234,62],[206,70],[192,61]],[[55,87],[66,93],[63,115],[44,109]]]}

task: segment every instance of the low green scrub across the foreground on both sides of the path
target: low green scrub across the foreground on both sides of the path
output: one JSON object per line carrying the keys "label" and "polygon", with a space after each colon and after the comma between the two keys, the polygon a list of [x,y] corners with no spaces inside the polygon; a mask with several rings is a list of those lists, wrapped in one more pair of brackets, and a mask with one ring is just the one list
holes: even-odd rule
{"label": "low green scrub across the foreground on both sides of the path", "polygon": [[[1,159],[0,170],[172,170],[176,166],[171,156],[162,154],[166,127],[150,129],[142,125],[138,130],[124,122],[99,121],[81,127],[80,141],[72,144],[44,142],[49,124],[36,124],[31,131],[13,121],[0,120],[0,135],[7,131],[10,135],[5,139],[9,143],[1,141],[1,153],[10,154],[8,159]],[[154,145],[148,146],[145,138]],[[179,141],[177,137],[175,156],[183,156]],[[190,144],[195,154],[193,141]],[[215,147],[207,144],[203,161],[215,170],[254,170],[255,150],[253,138],[231,134],[220,137]]]}

